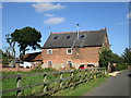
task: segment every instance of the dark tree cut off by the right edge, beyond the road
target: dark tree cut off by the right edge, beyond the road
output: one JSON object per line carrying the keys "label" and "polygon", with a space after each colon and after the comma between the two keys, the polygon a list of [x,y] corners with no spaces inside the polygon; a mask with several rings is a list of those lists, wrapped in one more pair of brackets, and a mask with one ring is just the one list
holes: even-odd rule
{"label": "dark tree cut off by the right edge, beyond the road", "polygon": [[131,64],[131,48],[126,48],[124,52],[122,53],[122,58],[124,63]]}

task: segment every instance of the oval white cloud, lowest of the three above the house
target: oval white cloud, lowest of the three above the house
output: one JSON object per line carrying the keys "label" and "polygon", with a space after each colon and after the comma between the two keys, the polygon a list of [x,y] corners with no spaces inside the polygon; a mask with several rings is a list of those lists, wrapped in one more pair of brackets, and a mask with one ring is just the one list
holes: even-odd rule
{"label": "oval white cloud, lowest of the three above the house", "polygon": [[46,24],[59,24],[59,23],[63,23],[66,21],[64,17],[50,17],[48,20],[45,21]]}

